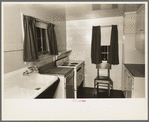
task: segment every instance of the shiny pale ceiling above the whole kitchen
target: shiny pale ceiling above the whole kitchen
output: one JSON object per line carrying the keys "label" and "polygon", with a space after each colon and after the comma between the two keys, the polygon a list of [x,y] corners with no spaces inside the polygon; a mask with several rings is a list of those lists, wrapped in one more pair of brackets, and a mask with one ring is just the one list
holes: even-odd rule
{"label": "shiny pale ceiling above the whole kitchen", "polygon": [[92,19],[122,16],[124,12],[136,11],[140,4],[99,4],[100,2],[27,2],[28,6],[39,8],[59,18],[58,20]]}

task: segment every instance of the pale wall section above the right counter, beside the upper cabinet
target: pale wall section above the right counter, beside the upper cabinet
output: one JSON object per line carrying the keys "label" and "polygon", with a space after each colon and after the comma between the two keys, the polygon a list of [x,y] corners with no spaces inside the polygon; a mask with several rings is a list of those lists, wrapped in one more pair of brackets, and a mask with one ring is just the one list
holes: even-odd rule
{"label": "pale wall section above the right counter, beside the upper cabinet", "polygon": [[145,54],[135,47],[136,12],[124,15],[124,63],[145,64]]}

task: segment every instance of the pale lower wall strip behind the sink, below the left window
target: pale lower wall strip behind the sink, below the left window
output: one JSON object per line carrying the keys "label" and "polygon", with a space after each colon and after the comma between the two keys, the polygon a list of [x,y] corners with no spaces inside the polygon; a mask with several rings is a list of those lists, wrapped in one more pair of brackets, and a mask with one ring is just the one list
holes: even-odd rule
{"label": "pale lower wall strip behind the sink, below the left window", "polygon": [[55,60],[55,56],[45,55],[40,56],[37,61],[34,62],[23,62],[23,50],[12,51],[12,52],[4,52],[4,74],[19,70],[24,67],[28,67],[31,65],[36,65],[40,67],[47,63],[51,63]]}

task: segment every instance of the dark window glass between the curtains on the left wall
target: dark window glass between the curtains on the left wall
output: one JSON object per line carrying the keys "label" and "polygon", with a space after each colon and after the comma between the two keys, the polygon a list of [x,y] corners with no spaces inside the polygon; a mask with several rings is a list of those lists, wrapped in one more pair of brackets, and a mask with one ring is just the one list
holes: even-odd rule
{"label": "dark window glass between the curtains on the left wall", "polygon": [[37,30],[37,47],[39,54],[48,53],[47,29],[36,27]]}

